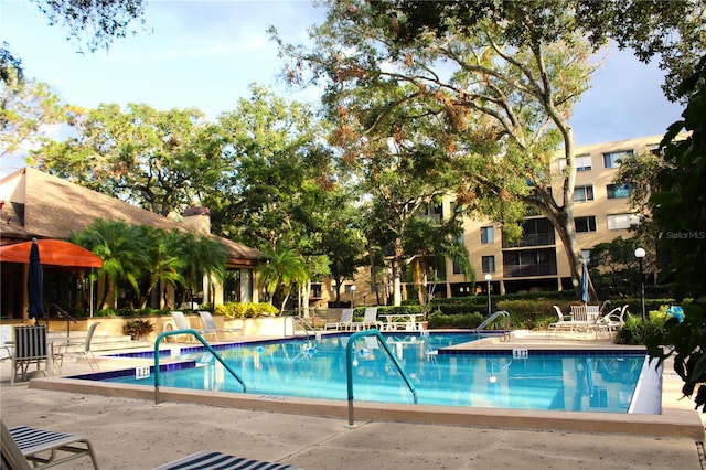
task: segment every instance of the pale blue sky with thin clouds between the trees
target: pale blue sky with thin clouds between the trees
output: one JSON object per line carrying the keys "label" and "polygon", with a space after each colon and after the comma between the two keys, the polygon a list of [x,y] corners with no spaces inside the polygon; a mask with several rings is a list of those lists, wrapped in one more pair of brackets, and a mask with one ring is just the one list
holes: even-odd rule
{"label": "pale blue sky with thin clouds between the trees", "polygon": [[[304,0],[148,1],[147,31],[115,40],[108,51],[82,54],[34,3],[0,0],[0,41],[22,60],[28,77],[51,85],[64,103],[196,107],[215,118],[249,97],[254,83],[290,99],[315,98],[315,90],[295,92],[281,82],[284,62],[267,29],[274,25],[287,42],[299,43],[322,19],[323,11]],[[664,133],[682,107],[664,98],[663,78],[655,63],[611,50],[574,109],[576,143]],[[0,173],[15,164],[1,161]]]}

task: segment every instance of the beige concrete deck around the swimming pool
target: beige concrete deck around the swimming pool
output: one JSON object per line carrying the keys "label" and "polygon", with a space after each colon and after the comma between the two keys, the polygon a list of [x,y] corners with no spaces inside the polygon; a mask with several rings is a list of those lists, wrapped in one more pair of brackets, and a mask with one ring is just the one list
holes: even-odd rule
{"label": "beige concrete deck around the swimming pool", "polygon": [[[512,348],[527,349],[616,348],[610,342],[569,334],[553,340],[545,340],[544,334],[527,334],[515,337],[510,343]],[[495,344],[485,346],[507,348],[509,343]],[[108,370],[108,362],[114,361],[103,363],[101,370]],[[149,469],[200,450],[307,469],[703,468],[698,445],[704,439],[700,416],[689,400],[678,399],[681,380],[668,366],[663,382],[665,413],[642,415],[644,421],[632,425],[637,426],[631,428],[633,431],[605,426],[600,431],[542,429],[542,425],[518,429],[513,423],[525,419],[520,410],[494,410],[492,421],[474,425],[440,425],[435,423],[434,415],[426,424],[399,423],[394,414],[388,414],[391,406],[379,407],[370,417],[359,414],[356,406],[355,426],[349,427],[346,418],[322,417],[304,405],[299,407],[306,415],[289,409],[277,412],[278,405],[286,402],[277,399],[266,400],[275,409],[268,412],[227,407],[218,400],[210,405],[176,402],[169,396],[165,403],[154,405],[151,389],[149,398],[135,398],[121,395],[120,391],[104,396],[38,387],[57,387],[62,380],[53,377],[35,380],[29,387],[10,386],[10,367],[8,361],[0,365],[3,421],[9,426],[28,425],[84,435],[92,440],[104,469]],[[84,372],[89,372],[85,363],[64,364],[65,374]],[[607,414],[588,415],[598,419]],[[436,418],[442,421],[440,416]],[[571,416],[566,420],[575,419]],[[547,426],[555,424],[547,421]],[[672,437],[664,432],[645,435],[645,429],[652,426],[657,429],[674,426],[681,430]],[[85,460],[64,468],[90,468],[89,460]]]}

